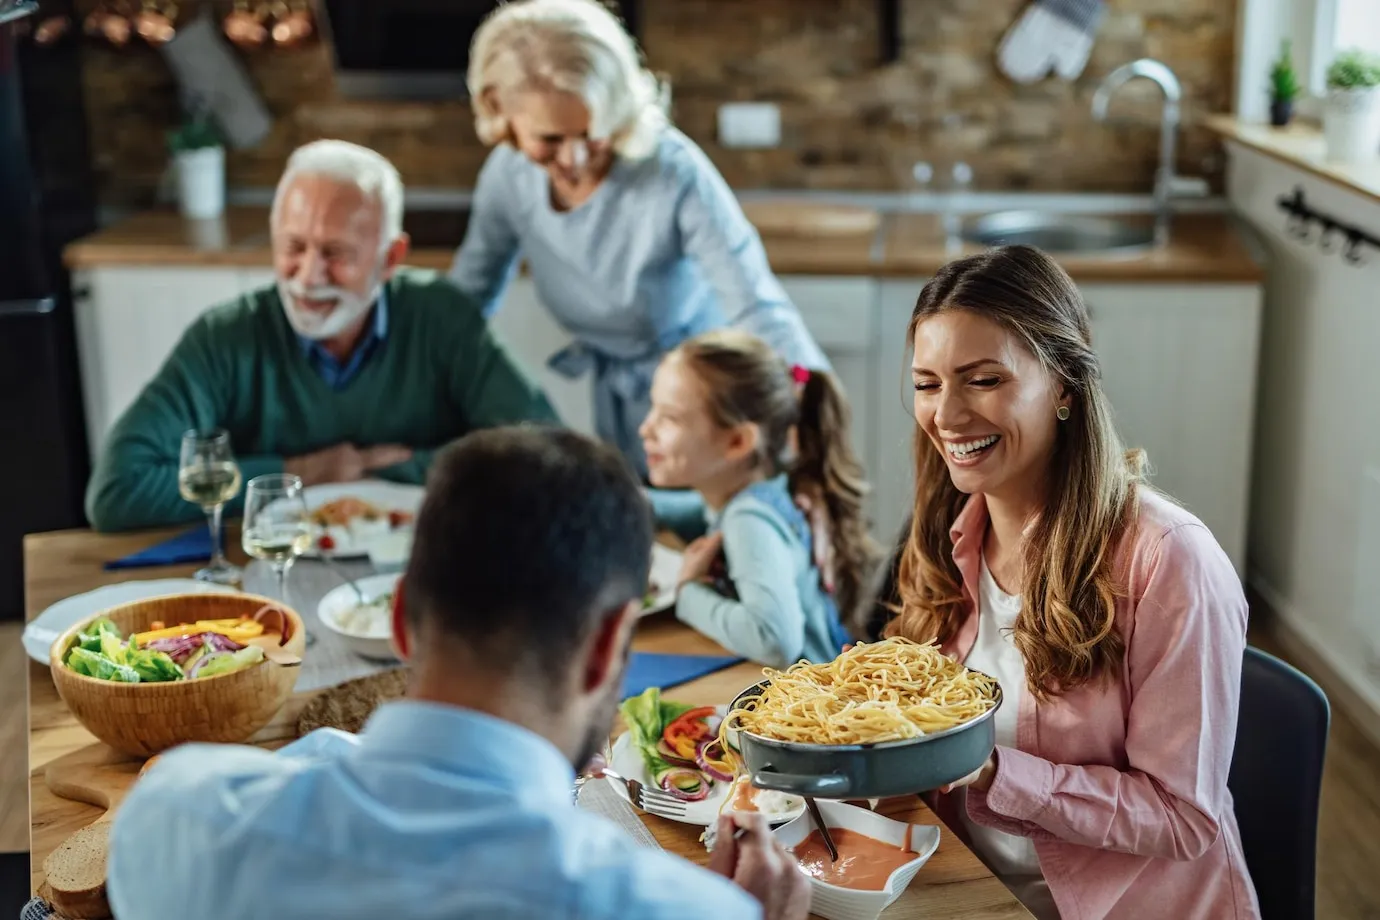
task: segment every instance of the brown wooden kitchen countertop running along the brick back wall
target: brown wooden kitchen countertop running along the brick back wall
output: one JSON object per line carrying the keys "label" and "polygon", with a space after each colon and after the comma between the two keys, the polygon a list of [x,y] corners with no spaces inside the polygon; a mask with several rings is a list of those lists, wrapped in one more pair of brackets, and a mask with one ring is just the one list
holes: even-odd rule
{"label": "brown wooden kitchen countertop running along the brick back wall", "polygon": [[[771,207],[770,215],[766,208]],[[780,274],[927,277],[956,258],[945,251],[937,215],[875,214],[867,221],[825,215],[846,208],[747,203]],[[793,225],[791,222],[795,212]],[[857,210],[854,210],[857,211]],[[836,215],[836,214],[835,214]],[[966,247],[960,254],[977,252]],[[414,248],[407,262],[446,269],[453,248]],[[70,268],[105,265],[253,266],[269,259],[268,211],[230,208],[221,221],[190,222],[174,211],[148,211],[70,244]],[[1243,281],[1264,277],[1241,230],[1224,214],[1181,214],[1166,248],[1133,257],[1061,257],[1079,281]]]}

